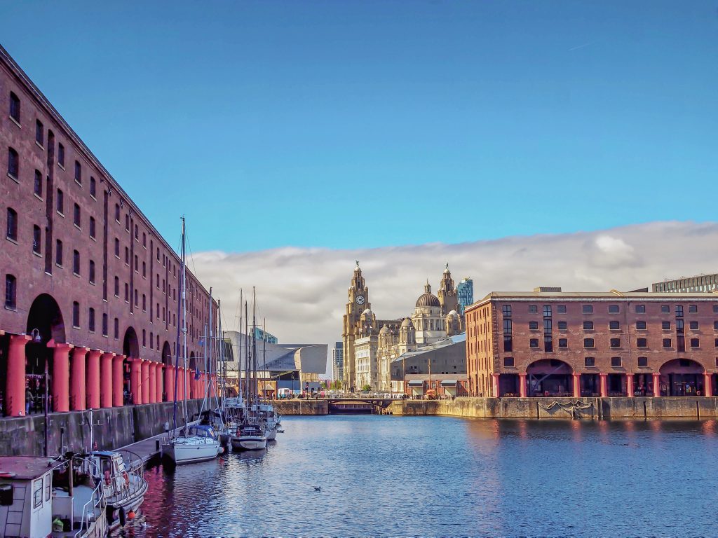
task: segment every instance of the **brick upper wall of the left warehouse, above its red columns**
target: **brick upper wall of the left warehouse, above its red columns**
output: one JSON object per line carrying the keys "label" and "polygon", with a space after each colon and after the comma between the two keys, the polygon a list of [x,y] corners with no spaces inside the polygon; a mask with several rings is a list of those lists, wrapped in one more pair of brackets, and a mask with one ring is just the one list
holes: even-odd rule
{"label": "brick upper wall of the left warehouse, above its red columns", "polygon": [[[9,372],[9,335],[30,334],[47,316],[43,345],[173,362],[180,259],[1,47],[0,135],[0,373]],[[187,354],[201,357],[209,294],[189,272],[187,288]],[[159,400],[153,369],[139,382]]]}

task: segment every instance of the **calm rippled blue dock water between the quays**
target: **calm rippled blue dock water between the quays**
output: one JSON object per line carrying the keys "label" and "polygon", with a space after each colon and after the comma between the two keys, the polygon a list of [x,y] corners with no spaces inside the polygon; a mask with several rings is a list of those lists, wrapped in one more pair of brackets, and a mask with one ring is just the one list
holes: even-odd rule
{"label": "calm rippled blue dock water between the quays", "polygon": [[[285,417],[263,453],[146,472],[136,537],[718,534],[718,423]],[[314,491],[321,486],[321,491]]]}

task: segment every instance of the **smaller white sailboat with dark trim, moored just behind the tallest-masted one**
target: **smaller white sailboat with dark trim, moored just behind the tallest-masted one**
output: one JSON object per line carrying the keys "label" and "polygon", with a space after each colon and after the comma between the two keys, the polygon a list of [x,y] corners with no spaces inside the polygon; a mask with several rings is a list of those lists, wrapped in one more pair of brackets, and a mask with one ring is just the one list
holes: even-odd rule
{"label": "smaller white sailboat with dark trim, moored just behind the tallest-masted one", "polygon": [[[254,298],[254,292],[253,292],[253,327],[256,329],[256,301]],[[247,311],[247,303],[244,303],[244,311],[245,311],[245,318],[248,318],[248,311]],[[248,332],[248,321],[245,321],[245,333]],[[234,435],[230,436],[230,443],[232,443],[232,448],[235,448],[236,450],[262,450],[266,448],[267,446],[267,435],[266,435],[266,426],[264,423],[264,420],[261,420],[261,417],[256,412],[253,412],[253,408],[256,407],[256,330],[253,331],[252,334],[252,354],[250,356],[249,354],[249,345],[248,345],[248,334],[245,334],[245,341],[247,343],[246,345],[246,355],[245,355],[245,377],[244,377],[244,389],[246,394],[246,412],[244,413],[243,421],[240,425],[238,425]],[[250,363],[253,363],[253,366],[250,368]],[[251,374],[251,377],[250,377]],[[253,405],[254,402],[254,405]]]}

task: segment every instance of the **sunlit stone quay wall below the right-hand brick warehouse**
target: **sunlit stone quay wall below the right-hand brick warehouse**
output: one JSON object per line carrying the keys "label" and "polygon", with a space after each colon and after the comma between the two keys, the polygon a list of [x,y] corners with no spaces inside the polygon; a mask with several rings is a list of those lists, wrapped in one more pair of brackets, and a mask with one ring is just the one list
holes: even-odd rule
{"label": "sunlit stone quay wall below the right-hand brick warehouse", "polygon": [[[555,402],[555,404],[554,404]],[[579,402],[579,405],[574,405]],[[553,406],[548,407],[549,405]],[[479,398],[396,400],[393,415],[479,418],[694,419],[718,418],[718,397]]]}

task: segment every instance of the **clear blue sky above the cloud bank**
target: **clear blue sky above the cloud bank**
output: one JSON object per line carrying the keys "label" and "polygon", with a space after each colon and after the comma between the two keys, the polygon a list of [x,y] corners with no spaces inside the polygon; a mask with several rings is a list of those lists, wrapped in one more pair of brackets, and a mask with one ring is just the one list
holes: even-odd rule
{"label": "clear blue sky above the cloud bank", "polygon": [[195,251],[715,219],[715,2],[4,1],[0,19]]}

